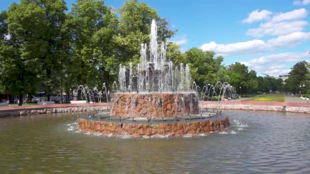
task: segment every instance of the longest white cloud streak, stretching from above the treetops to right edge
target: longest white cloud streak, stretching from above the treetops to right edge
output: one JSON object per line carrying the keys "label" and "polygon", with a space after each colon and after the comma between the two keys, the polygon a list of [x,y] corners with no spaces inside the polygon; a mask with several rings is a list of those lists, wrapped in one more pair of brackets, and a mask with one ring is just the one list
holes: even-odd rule
{"label": "longest white cloud streak, stretching from above the treetops to right edge", "polygon": [[245,55],[272,51],[280,47],[294,47],[303,41],[310,40],[310,33],[295,32],[282,35],[268,41],[254,39],[246,42],[217,44],[212,41],[200,46],[204,51],[214,51],[219,55]]}

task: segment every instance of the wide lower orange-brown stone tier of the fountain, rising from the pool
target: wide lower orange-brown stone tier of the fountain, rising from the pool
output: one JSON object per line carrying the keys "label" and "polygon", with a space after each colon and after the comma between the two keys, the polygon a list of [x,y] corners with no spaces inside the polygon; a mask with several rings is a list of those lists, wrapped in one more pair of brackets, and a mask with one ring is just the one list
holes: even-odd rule
{"label": "wide lower orange-brown stone tier of the fountain, rising from the pool", "polygon": [[156,135],[201,135],[222,131],[230,126],[227,117],[218,120],[199,120],[175,123],[117,123],[80,119],[79,129],[84,132],[100,133],[108,136],[156,136]]}

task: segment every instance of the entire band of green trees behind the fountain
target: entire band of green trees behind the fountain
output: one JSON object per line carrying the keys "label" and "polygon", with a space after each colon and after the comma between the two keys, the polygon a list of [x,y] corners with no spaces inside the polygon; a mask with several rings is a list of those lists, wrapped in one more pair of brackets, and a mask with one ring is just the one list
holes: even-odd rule
{"label": "entire band of green trees behind the fountain", "polygon": [[[77,1],[70,11],[64,0],[12,3],[0,13],[0,94],[19,96],[21,105],[25,95],[44,92],[48,99],[63,91],[72,94],[79,84],[101,89],[106,82],[111,88],[119,64],[139,63],[140,44],[149,43],[152,19],[160,42],[177,32],[157,10],[137,0],[126,1],[117,11],[102,0]],[[168,47],[167,57],[175,65],[189,64],[200,86],[227,81],[241,94],[297,92],[299,83],[309,86],[308,70],[298,68],[308,66],[306,62],[293,67],[283,86],[280,79],[257,77],[240,63],[224,66],[223,57],[212,51],[182,52],[171,42]]]}

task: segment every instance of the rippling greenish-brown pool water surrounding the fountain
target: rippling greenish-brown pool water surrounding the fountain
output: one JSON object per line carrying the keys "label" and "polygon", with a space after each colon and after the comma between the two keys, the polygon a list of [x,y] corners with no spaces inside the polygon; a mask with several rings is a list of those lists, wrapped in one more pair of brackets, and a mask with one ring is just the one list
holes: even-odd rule
{"label": "rippling greenish-brown pool water surrounding the fountain", "polygon": [[310,117],[224,111],[208,136],[109,138],[76,129],[83,113],[0,119],[0,173],[310,172]]}

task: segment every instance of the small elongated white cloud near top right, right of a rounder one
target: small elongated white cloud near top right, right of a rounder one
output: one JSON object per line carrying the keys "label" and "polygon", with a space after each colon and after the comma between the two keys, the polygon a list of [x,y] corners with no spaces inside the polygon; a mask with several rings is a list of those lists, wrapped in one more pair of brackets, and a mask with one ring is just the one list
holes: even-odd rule
{"label": "small elongated white cloud near top right, right of a rounder one", "polygon": [[279,13],[272,17],[271,22],[281,22],[286,20],[297,20],[307,16],[306,9],[297,9],[286,13]]}

